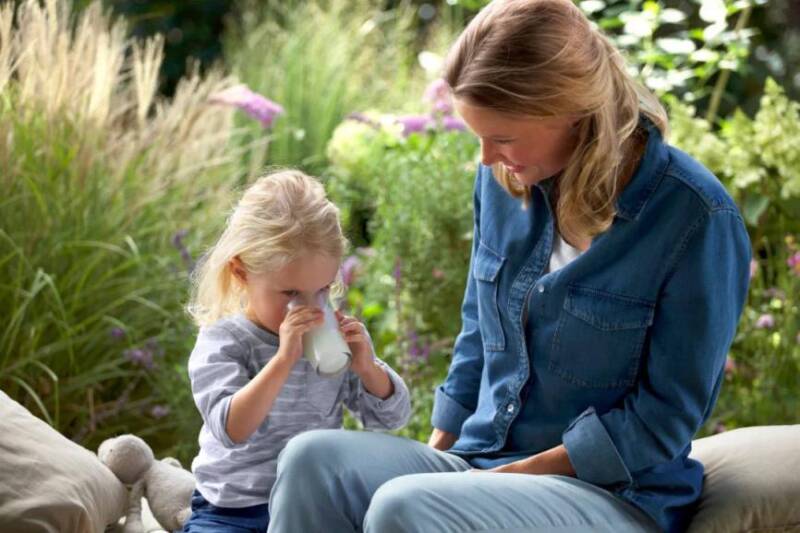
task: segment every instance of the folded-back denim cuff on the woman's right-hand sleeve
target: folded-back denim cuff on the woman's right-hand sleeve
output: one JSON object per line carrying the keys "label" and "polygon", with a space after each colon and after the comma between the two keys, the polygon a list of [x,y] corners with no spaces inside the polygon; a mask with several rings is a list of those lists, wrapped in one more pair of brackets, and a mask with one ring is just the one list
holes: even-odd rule
{"label": "folded-back denim cuff on the woman's right-hand sleeve", "polygon": [[594,407],[572,421],[562,436],[578,479],[594,485],[631,485],[633,479]]}

